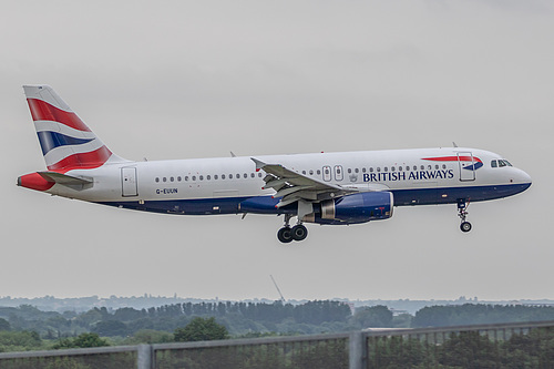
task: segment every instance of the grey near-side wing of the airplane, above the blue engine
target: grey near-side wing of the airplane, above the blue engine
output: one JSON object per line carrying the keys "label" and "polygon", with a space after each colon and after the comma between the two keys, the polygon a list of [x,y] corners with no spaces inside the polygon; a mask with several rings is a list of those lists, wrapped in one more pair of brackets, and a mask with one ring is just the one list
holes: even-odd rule
{"label": "grey near-side wing of the airplane, above the blue engine", "polygon": [[277,192],[274,197],[283,197],[277,207],[283,207],[297,201],[314,203],[359,192],[359,189],[345,188],[330,183],[319,182],[288,170],[280,164],[266,164],[257,158],[250,158],[256,163],[256,171],[263,170],[267,173],[264,177],[264,182],[266,183],[264,188],[274,188]]}

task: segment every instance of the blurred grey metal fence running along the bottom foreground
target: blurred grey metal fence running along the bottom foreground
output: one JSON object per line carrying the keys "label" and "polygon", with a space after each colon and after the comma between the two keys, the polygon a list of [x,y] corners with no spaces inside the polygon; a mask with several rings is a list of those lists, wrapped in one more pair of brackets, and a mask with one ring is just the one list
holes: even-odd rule
{"label": "blurred grey metal fence running along the bottom foreground", "polygon": [[554,321],[0,353],[2,369],[553,367]]}

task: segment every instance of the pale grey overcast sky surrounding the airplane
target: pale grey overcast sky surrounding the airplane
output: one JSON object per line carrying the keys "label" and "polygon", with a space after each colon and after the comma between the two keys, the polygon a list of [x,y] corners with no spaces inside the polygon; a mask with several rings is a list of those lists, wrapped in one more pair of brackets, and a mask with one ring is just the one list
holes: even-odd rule
{"label": "pale grey overcast sky surrounding the airplane", "polygon": [[[0,296],[554,299],[551,1],[2,1]],[[308,225],[131,212],[16,186],[44,168],[22,84],[130,160],[490,150],[533,186]]]}

